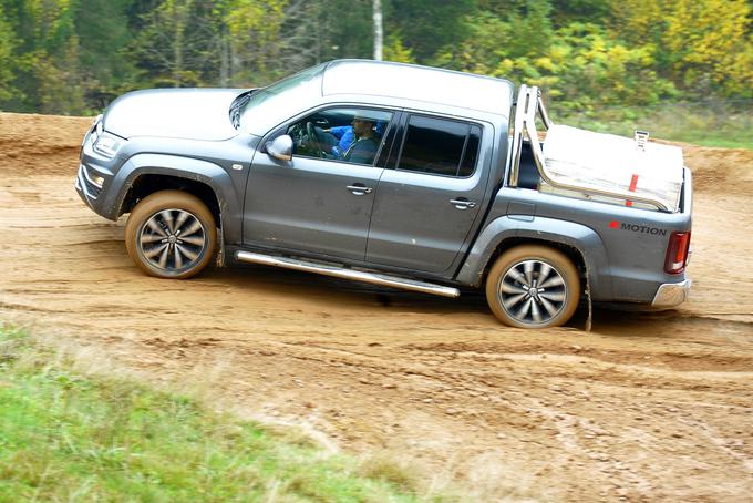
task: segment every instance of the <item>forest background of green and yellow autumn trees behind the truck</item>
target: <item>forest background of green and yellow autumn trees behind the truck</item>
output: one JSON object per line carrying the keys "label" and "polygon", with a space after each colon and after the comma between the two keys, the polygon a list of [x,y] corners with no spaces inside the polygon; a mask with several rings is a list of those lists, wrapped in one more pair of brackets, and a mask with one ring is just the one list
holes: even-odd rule
{"label": "forest background of green and yellow autumn trees behind the truck", "polygon": [[[0,0],[0,110],[371,58],[373,0]],[[383,57],[539,85],[555,120],[753,148],[753,0],[381,0]]]}

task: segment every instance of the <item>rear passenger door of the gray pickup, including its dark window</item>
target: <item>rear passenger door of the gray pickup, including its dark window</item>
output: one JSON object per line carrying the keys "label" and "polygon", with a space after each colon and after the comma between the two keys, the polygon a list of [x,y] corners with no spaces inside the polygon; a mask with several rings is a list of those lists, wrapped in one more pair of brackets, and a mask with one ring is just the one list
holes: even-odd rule
{"label": "rear passenger door of the gray pickup, including its dark window", "polygon": [[492,126],[408,113],[379,182],[367,261],[432,274],[448,271],[479,217]]}

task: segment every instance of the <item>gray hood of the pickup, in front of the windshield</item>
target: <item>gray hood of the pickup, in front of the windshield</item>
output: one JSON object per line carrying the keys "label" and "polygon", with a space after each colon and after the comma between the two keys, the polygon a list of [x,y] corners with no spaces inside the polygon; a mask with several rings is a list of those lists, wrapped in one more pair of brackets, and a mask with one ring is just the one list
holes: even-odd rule
{"label": "gray hood of the pickup, in front of the windshield", "polygon": [[154,89],[122,95],[104,113],[103,126],[117,136],[227,140],[238,134],[230,104],[246,90]]}

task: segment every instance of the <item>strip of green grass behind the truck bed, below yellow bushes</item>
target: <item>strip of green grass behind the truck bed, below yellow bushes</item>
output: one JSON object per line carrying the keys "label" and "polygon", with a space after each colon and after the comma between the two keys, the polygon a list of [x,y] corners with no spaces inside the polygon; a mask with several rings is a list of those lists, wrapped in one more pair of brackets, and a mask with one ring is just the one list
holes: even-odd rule
{"label": "strip of green grass behind the truck bed, below yellow bushes", "polygon": [[613,107],[582,114],[553,113],[557,123],[632,137],[651,137],[722,148],[753,150],[751,103],[670,103],[652,107]]}

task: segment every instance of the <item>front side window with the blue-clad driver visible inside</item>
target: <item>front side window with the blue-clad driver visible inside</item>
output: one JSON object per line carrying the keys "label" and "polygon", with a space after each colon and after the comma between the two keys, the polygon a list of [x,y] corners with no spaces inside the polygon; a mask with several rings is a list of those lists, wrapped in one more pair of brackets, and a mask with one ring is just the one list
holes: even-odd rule
{"label": "front side window with the blue-clad driver visible inside", "polygon": [[314,112],[288,126],[293,156],[373,165],[392,113],[342,107]]}

